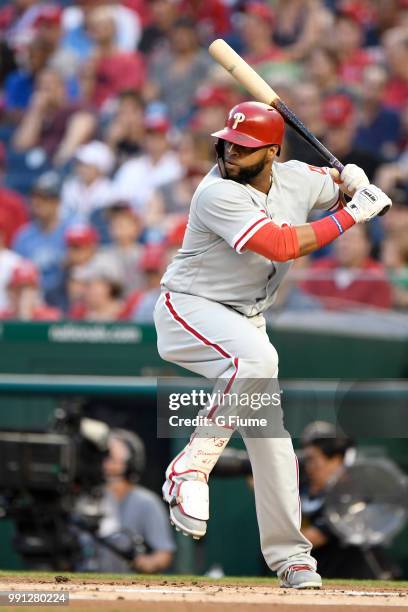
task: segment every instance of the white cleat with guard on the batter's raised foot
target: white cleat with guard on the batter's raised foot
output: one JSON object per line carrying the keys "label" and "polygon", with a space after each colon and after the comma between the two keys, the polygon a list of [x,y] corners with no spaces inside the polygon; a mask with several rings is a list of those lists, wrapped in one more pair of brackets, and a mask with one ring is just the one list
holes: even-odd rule
{"label": "white cleat with guard on the batter's raised foot", "polygon": [[162,488],[163,499],[170,506],[170,522],[177,531],[199,540],[207,531],[209,518],[207,477],[195,470],[176,476],[173,466],[167,468]]}

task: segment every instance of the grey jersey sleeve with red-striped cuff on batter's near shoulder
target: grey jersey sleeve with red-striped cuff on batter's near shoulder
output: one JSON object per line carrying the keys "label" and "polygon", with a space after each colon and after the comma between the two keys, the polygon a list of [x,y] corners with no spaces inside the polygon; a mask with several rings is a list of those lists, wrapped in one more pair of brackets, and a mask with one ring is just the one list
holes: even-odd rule
{"label": "grey jersey sleeve with red-striped cuff on batter's near shoulder", "polygon": [[223,238],[237,253],[269,218],[254,205],[238,183],[223,181],[205,189],[197,198],[197,216],[203,225]]}

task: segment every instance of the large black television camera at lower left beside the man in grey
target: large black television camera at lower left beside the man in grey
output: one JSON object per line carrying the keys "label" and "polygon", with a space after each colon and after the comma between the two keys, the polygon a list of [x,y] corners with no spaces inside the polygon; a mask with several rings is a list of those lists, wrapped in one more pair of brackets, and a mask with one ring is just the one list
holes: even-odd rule
{"label": "large black television camera at lower left beside the man in grey", "polygon": [[62,403],[46,431],[0,431],[0,518],[13,521],[26,567],[75,571],[84,533],[128,561],[142,551],[135,536],[119,548],[98,535],[109,435],[79,402]]}

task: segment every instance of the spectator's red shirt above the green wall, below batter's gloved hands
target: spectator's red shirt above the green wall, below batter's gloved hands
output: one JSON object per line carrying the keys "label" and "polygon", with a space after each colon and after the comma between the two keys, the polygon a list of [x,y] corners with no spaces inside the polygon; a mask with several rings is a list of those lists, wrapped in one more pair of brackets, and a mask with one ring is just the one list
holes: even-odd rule
{"label": "spectator's red shirt above the green wall, below batter's gloved hands", "polygon": [[391,308],[391,285],[383,266],[367,258],[359,268],[341,268],[332,257],[317,261],[310,278],[301,283],[308,294],[320,299],[331,310],[365,304]]}

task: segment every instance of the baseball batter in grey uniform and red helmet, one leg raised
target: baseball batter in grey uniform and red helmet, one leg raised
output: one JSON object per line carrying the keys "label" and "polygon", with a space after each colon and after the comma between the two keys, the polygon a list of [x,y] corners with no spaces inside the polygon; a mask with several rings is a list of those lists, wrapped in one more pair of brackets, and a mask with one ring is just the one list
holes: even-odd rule
{"label": "baseball batter in grey uniform and red helmet, one leg raised", "polygon": [[[226,127],[212,134],[218,164],[192,198],[182,248],[162,278],[155,307],[161,357],[217,379],[225,394],[267,391],[277,378],[278,355],[263,312],[292,261],[391,204],[353,164],[339,176],[299,161],[278,163],[283,135],[281,115],[258,102],[232,108]],[[342,193],[352,197],[348,204]],[[316,209],[330,214],[308,223]],[[171,522],[194,538],[206,532],[208,478],[233,433],[217,423],[219,410],[207,410],[208,422],[169,465],[163,485]],[[300,531],[298,465],[289,435],[244,441],[267,564],[281,586],[320,588],[312,546]]]}

